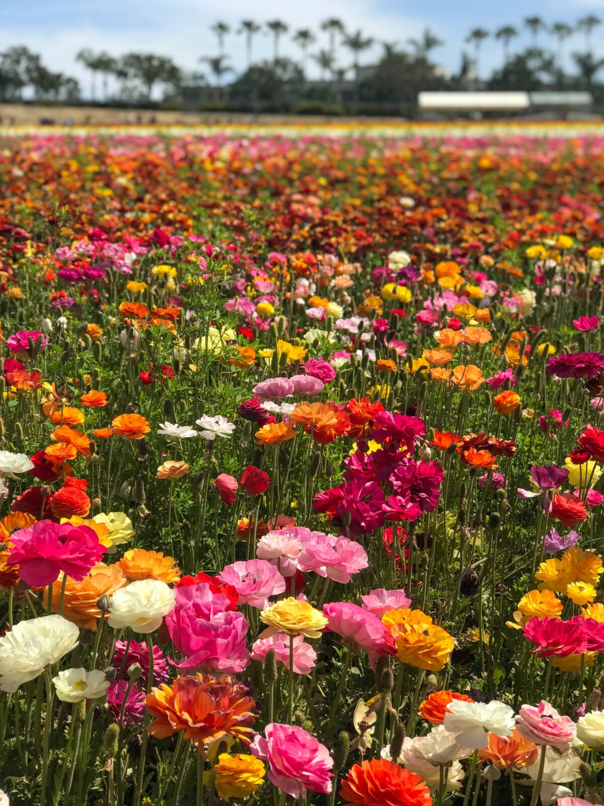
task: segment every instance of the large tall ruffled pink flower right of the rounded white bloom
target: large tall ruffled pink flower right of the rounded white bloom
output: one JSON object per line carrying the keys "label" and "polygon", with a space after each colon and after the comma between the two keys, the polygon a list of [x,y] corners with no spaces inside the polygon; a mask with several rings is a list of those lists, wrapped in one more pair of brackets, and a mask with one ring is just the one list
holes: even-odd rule
{"label": "large tall ruffled pink flower right of the rounded white bloom", "polygon": [[207,583],[176,588],[176,604],[166,627],[184,656],[178,669],[235,674],[250,663],[246,647],[248,623],[243,613],[228,611],[230,600]]}

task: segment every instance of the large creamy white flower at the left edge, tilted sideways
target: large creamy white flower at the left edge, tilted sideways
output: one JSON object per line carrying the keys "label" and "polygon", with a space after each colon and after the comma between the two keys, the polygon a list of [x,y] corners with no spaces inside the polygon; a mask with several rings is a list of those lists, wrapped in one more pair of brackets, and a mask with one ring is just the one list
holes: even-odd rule
{"label": "large creamy white flower at the left edge, tilted sideways", "polygon": [[58,615],[19,621],[0,638],[0,690],[14,693],[77,646],[80,630]]}

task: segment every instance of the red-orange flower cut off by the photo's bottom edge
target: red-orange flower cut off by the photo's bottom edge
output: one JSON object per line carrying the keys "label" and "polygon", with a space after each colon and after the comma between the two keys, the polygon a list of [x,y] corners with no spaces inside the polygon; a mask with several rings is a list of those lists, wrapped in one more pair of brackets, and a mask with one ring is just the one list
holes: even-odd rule
{"label": "red-orange flower cut off by the photo's bottom edge", "polygon": [[386,758],[354,764],[341,782],[345,806],[431,806],[424,779]]}

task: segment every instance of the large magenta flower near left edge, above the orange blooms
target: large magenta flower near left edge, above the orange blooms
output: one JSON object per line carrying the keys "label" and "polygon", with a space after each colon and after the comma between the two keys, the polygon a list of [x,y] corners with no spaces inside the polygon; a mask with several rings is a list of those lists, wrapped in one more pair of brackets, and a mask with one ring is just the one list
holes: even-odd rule
{"label": "large magenta flower near left edge, above the orange blooms", "polygon": [[19,576],[31,588],[55,582],[60,571],[80,582],[106,552],[89,526],[37,521],[10,535],[8,565],[19,566]]}

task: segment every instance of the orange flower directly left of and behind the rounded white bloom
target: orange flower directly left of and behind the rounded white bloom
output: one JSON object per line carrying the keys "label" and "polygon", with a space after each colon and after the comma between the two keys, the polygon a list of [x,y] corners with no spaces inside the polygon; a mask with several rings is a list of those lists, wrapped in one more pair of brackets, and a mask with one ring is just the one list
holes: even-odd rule
{"label": "orange flower directly left of and behind the rounded white bloom", "polygon": [[[72,580],[68,576],[65,583],[65,596],[63,602],[63,616],[72,621],[80,629],[97,630],[97,621],[101,618],[101,611],[97,608],[97,601],[106,593],[107,596],[124,588],[128,580],[117,565],[97,563],[81,582]],[[61,588],[63,587],[63,573],[52,586],[52,612],[59,612]],[[48,588],[44,589],[44,607],[48,605]],[[109,613],[105,614],[105,618]]]}

